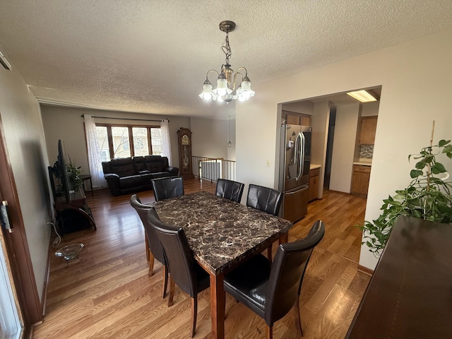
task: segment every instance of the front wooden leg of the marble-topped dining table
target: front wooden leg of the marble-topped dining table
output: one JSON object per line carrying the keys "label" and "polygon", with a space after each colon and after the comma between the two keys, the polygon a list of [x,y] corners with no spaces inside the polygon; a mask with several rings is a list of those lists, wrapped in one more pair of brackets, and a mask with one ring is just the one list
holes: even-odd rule
{"label": "front wooden leg of the marble-topped dining table", "polygon": [[225,338],[226,295],[223,280],[225,275],[210,274],[210,315],[212,317],[212,338]]}

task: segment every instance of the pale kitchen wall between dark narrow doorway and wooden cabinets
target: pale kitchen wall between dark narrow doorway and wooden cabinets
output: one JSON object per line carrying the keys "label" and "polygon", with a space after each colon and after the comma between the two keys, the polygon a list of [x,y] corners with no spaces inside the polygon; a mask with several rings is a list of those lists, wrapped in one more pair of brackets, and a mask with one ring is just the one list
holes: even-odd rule
{"label": "pale kitchen wall between dark narrow doorway and wooden cabinets", "polygon": [[333,191],[350,193],[360,109],[359,103],[336,108],[329,186]]}

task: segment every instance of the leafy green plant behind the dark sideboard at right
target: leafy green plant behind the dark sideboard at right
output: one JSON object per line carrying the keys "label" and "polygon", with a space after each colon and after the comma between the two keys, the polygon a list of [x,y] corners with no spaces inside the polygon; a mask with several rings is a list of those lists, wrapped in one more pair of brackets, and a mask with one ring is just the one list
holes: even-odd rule
{"label": "leafy green plant behind the dark sideboard at right", "polygon": [[399,215],[452,223],[452,182],[446,181],[448,172],[436,161],[436,155],[441,153],[452,159],[452,145],[450,140],[441,140],[438,145],[432,143],[433,131],[430,145],[422,148],[419,154],[408,156],[408,161],[417,160],[415,169],[410,172],[410,184],[383,200],[379,218],[358,225],[365,239],[362,244],[367,244],[377,258],[381,256]]}

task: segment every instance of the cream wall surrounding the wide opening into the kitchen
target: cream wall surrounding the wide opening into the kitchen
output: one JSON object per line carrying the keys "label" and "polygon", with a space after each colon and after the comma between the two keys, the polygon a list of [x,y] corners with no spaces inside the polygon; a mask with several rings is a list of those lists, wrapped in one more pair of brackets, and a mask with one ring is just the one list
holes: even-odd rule
{"label": "cream wall surrounding the wide opening into the kitchen", "polygon": [[[377,218],[382,199],[410,182],[408,154],[429,143],[432,120],[436,120],[436,141],[451,138],[451,54],[452,30],[444,30],[293,76],[254,83],[253,99],[236,105],[237,180],[246,185],[274,184],[275,166],[266,167],[265,162],[275,158],[278,103],[382,85],[365,215],[366,220]],[[376,258],[364,247],[359,263],[373,269]]]}

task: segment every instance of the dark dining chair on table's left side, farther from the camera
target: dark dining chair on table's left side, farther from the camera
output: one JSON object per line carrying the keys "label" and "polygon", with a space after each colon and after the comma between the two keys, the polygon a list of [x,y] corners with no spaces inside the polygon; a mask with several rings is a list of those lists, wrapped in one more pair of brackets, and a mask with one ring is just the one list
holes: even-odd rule
{"label": "dark dining chair on table's left side, farther from the camera", "polygon": [[141,219],[141,222],[143,223],[144,227],[144,234],[145,234],[145,246],[146,246],[146,259],[149,261],[149,275],[153,275],[154,271],[154,259],[157,259],[157,261],[160,261],[163,266],[163,297],[165,298],[165,295],[167,294],[167,285],[168,285],[168,270],[167,265],[165,261],[165,256],[163,255],[163,247],[162,244],[160,244],[160,240],[157,237],[157,234],[155,234],[155,230],[153,227],[150,226],[148,222],[148,211],[153,210],[153,206],[144,205],[141,203],[140,199],[136,194],[133,194],[130,197],[130,204],[133,208],[135,208],[136,212],[138,213],[138,216]]}

